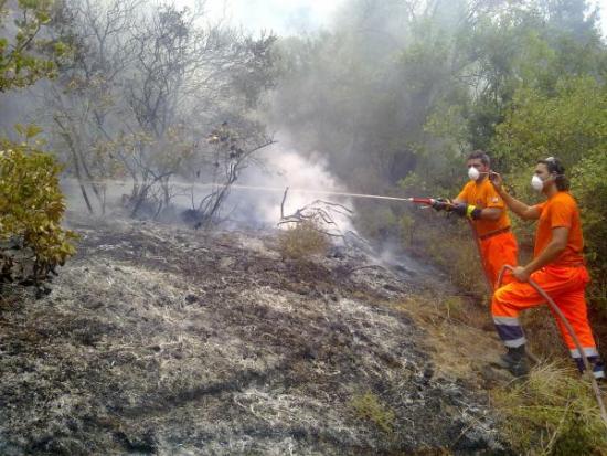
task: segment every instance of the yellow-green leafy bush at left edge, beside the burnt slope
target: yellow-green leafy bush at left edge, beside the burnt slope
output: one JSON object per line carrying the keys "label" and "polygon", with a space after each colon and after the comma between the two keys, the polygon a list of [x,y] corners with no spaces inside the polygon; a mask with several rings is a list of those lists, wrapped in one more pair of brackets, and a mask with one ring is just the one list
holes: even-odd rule
{"label": "yellow-green leafy bush at left edge, beside the burnt slope", "polygon": [[[19,129],[31,137],[38,128]],[[45,277],[75,253],[75,234],[61,227],[65,203],[58,185],[60,171],[54,158],[34,146],[0,140],[0,241],[32,250],[33,277],[26,278]],[[4,254],[0,251],[8,267]]]}

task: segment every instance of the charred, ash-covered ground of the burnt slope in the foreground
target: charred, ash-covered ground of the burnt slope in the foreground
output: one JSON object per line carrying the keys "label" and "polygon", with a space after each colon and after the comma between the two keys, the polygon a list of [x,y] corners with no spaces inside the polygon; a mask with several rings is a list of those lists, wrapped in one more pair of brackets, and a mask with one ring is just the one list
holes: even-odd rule
{"label": "charred, ash-covered ground of the burnt slope in the foreground", "polygon": [[0,454],[502,449],[486,393],[435,365],[404,304],[439,286],[422,267],[354,246],[283,261],[268,232],[72,227],[49,295],[2,287]]}

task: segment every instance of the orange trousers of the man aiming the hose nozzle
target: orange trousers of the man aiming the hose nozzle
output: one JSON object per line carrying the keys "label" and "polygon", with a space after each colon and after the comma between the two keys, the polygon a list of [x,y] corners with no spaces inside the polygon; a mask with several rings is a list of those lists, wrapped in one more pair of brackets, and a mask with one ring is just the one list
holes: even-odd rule
{"label": "orange trousers of the man aiming the hose nozzle", "polygon": [[[487,277],[491,282],[493,288],[498,287],[498,277],[503,265],[517,266],[519,247],[514,234],[511,232],[498,234],[488,240],[480,241],[480,251],[482,255],[482,265]],[[509,284],[514,278],[510,271],[505,271],[502,285]]]}

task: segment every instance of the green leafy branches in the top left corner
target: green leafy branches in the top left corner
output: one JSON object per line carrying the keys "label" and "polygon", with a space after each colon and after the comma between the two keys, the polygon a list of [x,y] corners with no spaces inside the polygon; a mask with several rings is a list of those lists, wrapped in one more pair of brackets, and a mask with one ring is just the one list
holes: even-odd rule
{"label": "green leafy branches in the top left corner", "polygon": [[[6,0],[0,1],[0,28]],[[34,49],[42,50],[45,42],[36,35],[51,21],[53,0],[19,0],[19,14],[15,17],[17,32],[13,39],[0,39],[0,92],[26,87],[43,77],[56,75],[56,64],[40,57]],[[61,43],[55,43],[52,54],[60,57],[66,52]]]}

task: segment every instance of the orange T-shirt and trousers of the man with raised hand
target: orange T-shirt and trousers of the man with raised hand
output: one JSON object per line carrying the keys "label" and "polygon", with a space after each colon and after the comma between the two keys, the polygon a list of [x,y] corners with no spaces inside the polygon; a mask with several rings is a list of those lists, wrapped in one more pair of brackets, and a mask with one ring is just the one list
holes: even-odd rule
{"label": "orange T-shirt and trousers of the man with raised hand", "polygon": [[[550,244],[553,229],[564,226],[569,229],[569,233],[565,251],[554,262],[531,274],[531,278],[546,291],[567,318],[586,357],[594,365],[595,377],[604,377],[603,363],[598,358],[595,339],[588,324],[584,298],[589,275],[582,256],[584,240],[577,204],[568,192],[562,191],[535,208],[541,215],[535,233],[534,256],[537,256]],[[496,329],[507,347],[520,347],[525,343],[525,337],[519,322],[519,312],[544,303],[545,300],[528,283],[511,282],[496,290],[491,301],[491,314]],[[558,318],[556,320],[571,356],[583,371],[581,353],[565,326]]]}

